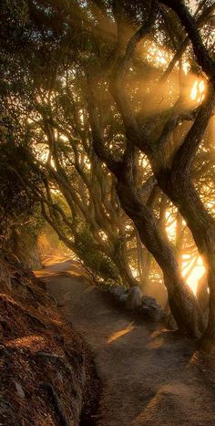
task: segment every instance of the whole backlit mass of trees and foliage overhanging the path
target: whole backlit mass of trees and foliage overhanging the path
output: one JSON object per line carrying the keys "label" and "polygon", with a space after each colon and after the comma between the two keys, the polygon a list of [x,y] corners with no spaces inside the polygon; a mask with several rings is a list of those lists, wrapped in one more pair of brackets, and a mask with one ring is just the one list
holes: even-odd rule
{"label": "whole backlit mass of trees and foliage overhanging the path", "polygon": [[[39,204],[97,279],[163,288],[204,348],[215,340],[213,13],[210,0],[5,0],[0,18],[1,192]],[[186,278],[200,256],[196,297]]]}

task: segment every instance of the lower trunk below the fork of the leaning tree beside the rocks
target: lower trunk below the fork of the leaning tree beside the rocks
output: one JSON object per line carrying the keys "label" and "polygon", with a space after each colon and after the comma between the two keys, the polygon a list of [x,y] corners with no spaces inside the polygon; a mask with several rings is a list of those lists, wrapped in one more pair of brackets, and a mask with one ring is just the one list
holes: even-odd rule
{"label": "lower trunk below the fork of the leaning tree beside the rocks", "polygon": [[177,326],[189,336],[199,338],[204,329],[200,305],[183,281],[174,247],[161,234],[154,215],[141,203],[138,192],[131,184],[118,181],[117,192],[122,208],[138,229],[142,243],[161,267],[169,295],[169,307]]}

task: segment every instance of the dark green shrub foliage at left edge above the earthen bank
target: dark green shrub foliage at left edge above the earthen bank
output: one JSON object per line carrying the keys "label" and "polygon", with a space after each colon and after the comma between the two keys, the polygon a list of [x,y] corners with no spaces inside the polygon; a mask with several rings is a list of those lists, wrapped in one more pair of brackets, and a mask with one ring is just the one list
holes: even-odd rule
{"label": "dark green shrub foliage at left edge above the earthen bank", "polygon": [[[0,116],[0,245],[14,253],[27,267],[39,267],[36,239],[44,224],[38,202],[25,191],[18,177],[22,169],[33,187],[40,178],[26,161],[25,151],[18,146],[10,119]],[[18,139],[18,138],[17,138]],[[39,179],[39,180],[38,180]]]}

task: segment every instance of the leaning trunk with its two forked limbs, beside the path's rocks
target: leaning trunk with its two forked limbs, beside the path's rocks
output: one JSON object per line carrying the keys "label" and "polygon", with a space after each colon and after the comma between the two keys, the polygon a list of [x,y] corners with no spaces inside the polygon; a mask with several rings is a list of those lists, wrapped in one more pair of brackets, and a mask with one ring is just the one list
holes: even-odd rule
{"label": "leaning trunk with its two forked limbs, beside the path's rocks", "polygon": [[138,170],[134,161],[135,151],[132,143],[137,138],[140,140],[140,135],[125,93],[120,99],[118,90],[116,96],[113,95],[123,118],[128,139],[123,160],[116,161],[106,149],[97,114],[99,105],[92,89],[93,83],[92,81],[88,81],[88,83],[87,104],[94,150],[97,152],[97,156],[107,164],[109,171],[115,174],[118,180],[116,189],[121,207],[135,223],[142,243],[155,257],[162,269],[164,284],[169,295],[169,307],[179,329],[188,332],[192,337],[200,337],[204,324],[199,302],[181,277],[174,248],[169,244],[165,234],[161,234],[154,214],[147,205],[141,202],[141,194],[136,190],[138,182],[135,182],[135,177]]}

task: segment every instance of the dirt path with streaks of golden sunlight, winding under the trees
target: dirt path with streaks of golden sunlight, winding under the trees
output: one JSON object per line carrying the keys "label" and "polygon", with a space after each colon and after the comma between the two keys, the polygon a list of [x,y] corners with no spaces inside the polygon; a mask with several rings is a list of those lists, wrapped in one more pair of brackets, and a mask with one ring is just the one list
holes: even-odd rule
{"label": "dirt path with streaks of golden sunlight, winding under the trees", "polygon": [[95,354],[103,385],[97,425],[214,426],[215,359],[122,312],[75,263],[59,260],[37,275]]}

